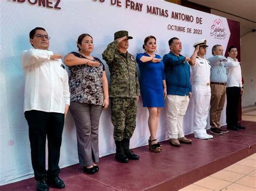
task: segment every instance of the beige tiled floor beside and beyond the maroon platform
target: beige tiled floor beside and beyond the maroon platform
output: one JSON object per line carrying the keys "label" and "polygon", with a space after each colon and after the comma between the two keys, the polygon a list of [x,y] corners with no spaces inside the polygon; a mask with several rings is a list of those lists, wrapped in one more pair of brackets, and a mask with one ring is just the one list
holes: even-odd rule
{"label": "beige tiled floor beside and beyond the maroon platform", "polygon": [[[242,120],[256,122],[256,107],[243,109]],[[180,189],[180,191],[185,190],[256,191],[256,153],[224,168],[222,171]]]}

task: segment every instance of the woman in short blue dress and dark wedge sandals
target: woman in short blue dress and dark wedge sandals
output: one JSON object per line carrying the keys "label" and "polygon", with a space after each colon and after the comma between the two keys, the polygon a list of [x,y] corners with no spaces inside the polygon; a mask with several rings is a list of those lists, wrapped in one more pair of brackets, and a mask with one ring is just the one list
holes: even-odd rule
{"label": "woman in short blue dress and dark wedge sandals", "polygon": [[154,53],[157,49],[155,37],[146,37],[143,49],[145,52],[137,54],[136,61],[140,70],[143,107],[149,110],[149,148],[153,152],[160,152],[162,146],[157,142],[156,133],[160,111],[164,107],[164,98],[167,95],[164,63],[161,57]]}

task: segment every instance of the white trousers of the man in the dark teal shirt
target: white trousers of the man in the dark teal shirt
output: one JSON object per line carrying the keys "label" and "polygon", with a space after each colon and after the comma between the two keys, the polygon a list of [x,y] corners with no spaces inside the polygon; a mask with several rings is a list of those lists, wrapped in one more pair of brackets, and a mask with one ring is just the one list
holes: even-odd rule
{"label": "white trousers of the man in the dark teal shirt", "polygon": [[188,96],[167,95],[166,100],[166,117],[169,137],[170,139],[184,137],[183,117],[186,114],[190,98]]}

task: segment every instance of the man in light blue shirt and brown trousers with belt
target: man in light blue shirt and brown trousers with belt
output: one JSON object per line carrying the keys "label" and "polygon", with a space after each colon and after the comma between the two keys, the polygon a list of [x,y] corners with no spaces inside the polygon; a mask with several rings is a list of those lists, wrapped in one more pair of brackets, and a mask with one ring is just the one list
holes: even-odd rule
{"label": "man in light blue shirt and brown trousers with belt", "polygon": [[212,54],[213,56],[208,59],[211,63],[210,132],[214,135],[223,135],[223,133],[228,133],[226,129],[220,126],[221,111],[226,98],[227,72],[225,67],[232,67],[233,63],[227,61],[223,56],[223,47],[221,45],[214,45]]}

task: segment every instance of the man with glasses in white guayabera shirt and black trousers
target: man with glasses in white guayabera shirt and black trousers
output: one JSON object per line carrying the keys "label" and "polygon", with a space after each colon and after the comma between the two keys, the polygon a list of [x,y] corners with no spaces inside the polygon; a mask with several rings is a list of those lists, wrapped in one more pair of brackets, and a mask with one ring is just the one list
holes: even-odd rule
{"label": "man with glasses in white guayabera shirt and black trousers", "polygon": [[[64,188],[58,163],[65,115],[70,104],[68,73],[59,54],[49,51],[50,37],[41,27],[29,33],[33,48],[21,53],[25,76],[24,114],[29,125],[32,167],[37,190]],[[48,140],[48,170],[45,143]]]}

